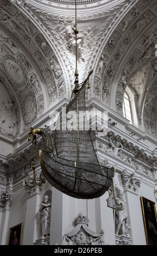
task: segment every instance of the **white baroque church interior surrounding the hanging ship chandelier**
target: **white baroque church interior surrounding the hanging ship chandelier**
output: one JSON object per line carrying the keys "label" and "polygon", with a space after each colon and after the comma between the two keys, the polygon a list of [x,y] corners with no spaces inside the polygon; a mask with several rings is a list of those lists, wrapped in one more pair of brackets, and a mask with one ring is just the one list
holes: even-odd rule
{"label": "white baroque church interior surrounding the hanging ship chandelier", "polygon": [[[15,231],[18,245],[157,245],[156,16],[156,0],[1,0],[1,245]],[[87,106],[107,113],[107,132],[91,140],[99,163],[114,167],[119,210],[108,191],[78,199],[38,185],[30,128],[51,133],[74,89],[76,53],[79,83],[93,70]]]}

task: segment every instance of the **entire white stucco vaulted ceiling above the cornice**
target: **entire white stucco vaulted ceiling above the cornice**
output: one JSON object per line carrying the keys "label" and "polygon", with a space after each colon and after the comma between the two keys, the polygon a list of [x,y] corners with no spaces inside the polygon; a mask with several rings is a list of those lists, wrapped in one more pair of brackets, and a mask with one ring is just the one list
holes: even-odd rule
{"label": "entire white stucco vaulted ceiling above the cornice", "polygon": [[[93,69],[90,97],[122,114],[133,92],[138,128],[156,136],[157,3],[77,1],[79,81]],[[1,0],[0,133],[14,137],[71,96],[75,1]]]}

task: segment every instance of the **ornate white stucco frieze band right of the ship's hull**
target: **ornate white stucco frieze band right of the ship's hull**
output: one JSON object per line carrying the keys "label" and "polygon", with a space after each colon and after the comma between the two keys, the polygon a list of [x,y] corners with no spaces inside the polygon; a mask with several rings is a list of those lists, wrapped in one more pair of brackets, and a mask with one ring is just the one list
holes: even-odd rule
{"label": "ornate white stucco frieze band right of the ship's hull", "polygon": [[126,166],[133,169],[133,172],[137,172],[142,175],[146,175],[149,178],[153,178],[152,173],[152,157],[148,156],[144,151],[141,151],[139,147],[133,143],[122,139],[120,136],[114,135],[114,133],[108,133],[105,140],[97,140],[97,151],[112,159],[117,160]]}

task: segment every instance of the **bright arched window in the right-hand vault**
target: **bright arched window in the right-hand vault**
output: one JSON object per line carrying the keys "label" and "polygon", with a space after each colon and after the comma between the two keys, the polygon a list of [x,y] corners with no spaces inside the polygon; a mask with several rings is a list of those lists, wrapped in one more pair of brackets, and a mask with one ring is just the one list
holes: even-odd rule
{"label": "bright arched window in the right-hand vault", "polygon": [[130,124],[138,127],[134,95],[128,87],[123,97],[123,116],[130,121]]}

